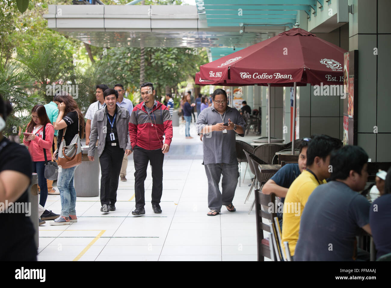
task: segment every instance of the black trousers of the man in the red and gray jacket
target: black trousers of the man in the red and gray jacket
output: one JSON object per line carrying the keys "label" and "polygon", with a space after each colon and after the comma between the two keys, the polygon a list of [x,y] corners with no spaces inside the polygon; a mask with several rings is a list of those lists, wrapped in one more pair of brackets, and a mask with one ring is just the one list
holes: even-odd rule
{"label": "black trousers of the man in the red and gray jacket", "polygon": [[147,178],[148,161],[152,166],[152,205],[160,203],[163,192],[163,160],[161,149],[146,150],[135,146],[133,149],[133,161],[135,162],[135,200],[136,208],[145,205],[144,181]]}

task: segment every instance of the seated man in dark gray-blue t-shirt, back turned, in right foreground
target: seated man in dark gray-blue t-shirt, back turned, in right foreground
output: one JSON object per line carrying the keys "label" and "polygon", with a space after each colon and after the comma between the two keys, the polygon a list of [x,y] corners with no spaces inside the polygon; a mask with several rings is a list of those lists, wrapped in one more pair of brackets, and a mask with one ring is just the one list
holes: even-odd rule
{"label": "seated man in dark gray-blue t-shirt, back turned, in right foreground", "polygon": [[369,260],[363,250],[357,253],[355,241],[363,230],[371,234],[369,201],[357,193],[368,180],[367,162],[368,154],[358,146],[332,152],[332,181],[319,185],[308,197],[294,261]]}

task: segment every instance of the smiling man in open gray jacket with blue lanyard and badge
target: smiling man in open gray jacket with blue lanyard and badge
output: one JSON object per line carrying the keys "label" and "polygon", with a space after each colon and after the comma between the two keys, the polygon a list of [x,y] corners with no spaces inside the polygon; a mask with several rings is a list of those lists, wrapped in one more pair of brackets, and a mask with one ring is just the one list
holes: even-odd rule
{"label": "smiling man in open gray jacket with blue lanyard and badge", "polygon": [[129,112],[117,105],[118,92],[106,89],[103,92],[102,109],[95,112],[91,127],[88,158],[94,161],[95,144],[99,136],[98,156],[102,177],[100,179],[100,211],[115,210],[118,177],[124,153],[129,156],[133,150],[129,138]]}

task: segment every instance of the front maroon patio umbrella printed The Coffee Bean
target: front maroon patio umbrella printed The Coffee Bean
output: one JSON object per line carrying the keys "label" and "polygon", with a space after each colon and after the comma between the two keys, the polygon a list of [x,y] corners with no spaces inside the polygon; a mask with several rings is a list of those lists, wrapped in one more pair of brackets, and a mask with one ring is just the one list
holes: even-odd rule
{"label": "front maroon patio umbrella printed The Coffee Bean", "polygon": [[[293,83],[295,121],[296,83],[343,85],[345,52],[341,47],[296,27],[202,65],[201,79],[242,84],[267,83],[269,87],[291,86]],[[295,123],[292,127],[293,153]]]}

